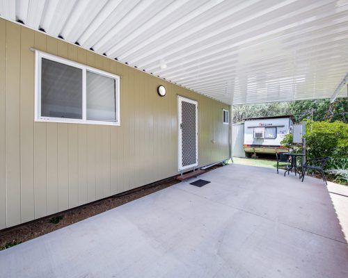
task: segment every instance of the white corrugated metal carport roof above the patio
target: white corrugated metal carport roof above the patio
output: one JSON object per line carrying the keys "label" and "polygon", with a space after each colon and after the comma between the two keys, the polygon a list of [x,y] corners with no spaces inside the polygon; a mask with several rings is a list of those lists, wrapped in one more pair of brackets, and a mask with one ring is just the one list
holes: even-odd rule
{"label": "white corrugated metal carport roof above the patio", "polygon": [[331,97],[348,72],[348,0],[0,0],[0,15],[228,104]]}

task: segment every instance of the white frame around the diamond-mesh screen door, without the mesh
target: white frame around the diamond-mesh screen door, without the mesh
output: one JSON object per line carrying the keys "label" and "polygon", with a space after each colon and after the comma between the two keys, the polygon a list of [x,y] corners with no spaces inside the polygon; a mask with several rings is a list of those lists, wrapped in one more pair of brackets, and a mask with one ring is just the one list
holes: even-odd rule
{"label": "white frame around the diamond-mesh screen door, without the mesh", "polygon": [[[196,163],[191,165],[182,166],[182,101],[189,102],[196,105]],[[178,142],[178,161],[177,166],[179,171],[186,170],[195,166],[198,166],[198,102],[186,97],[177,96],[177,142]]]}

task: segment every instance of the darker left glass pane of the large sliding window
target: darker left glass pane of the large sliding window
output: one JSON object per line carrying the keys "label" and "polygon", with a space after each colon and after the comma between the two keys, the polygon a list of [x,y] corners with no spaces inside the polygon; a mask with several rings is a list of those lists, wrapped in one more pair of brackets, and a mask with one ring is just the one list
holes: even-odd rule
{"label": "darker left glass pane of the large sliding window", "polygon": [[82,119],[82,70],[42,58],[41,116]]}

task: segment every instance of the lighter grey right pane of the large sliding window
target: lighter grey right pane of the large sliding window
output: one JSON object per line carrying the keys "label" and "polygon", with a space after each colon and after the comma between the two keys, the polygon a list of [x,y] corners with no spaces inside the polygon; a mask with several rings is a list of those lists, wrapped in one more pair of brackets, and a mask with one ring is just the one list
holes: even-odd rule
{"label": "lighter grey right pane of the large sliding window", "polygon": [[116,79],[87,71],[87,120],[116,122]]}

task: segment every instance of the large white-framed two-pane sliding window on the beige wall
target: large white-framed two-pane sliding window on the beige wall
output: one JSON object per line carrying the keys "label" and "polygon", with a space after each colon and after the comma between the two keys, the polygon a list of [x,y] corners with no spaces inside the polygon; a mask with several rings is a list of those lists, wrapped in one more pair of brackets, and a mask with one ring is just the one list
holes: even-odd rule
{"label": "large white-framed two-pane sliding window on the beige wall", "polygon": [[120,125],[120,76],[35,51],[35,121]]}

